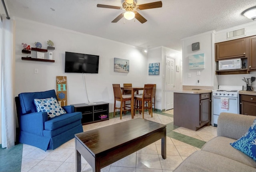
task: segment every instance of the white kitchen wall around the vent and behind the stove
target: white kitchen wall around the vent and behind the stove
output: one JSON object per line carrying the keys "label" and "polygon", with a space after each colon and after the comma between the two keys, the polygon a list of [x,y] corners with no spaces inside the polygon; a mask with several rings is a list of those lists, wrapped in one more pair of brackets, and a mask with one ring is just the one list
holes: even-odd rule
{"label": "white kitchen wall around the vent and behind the stove", "polygon": [[[241,36],[238,38],[256,35],[256,22],[250,22],[248,24],[244,24],[244,25],[240,25],[240,26],[236,26],[233,28],[228,28],[226,30],[221,30],[219,32],[216,32],[215,43],[238,39],[238,38],[233,38],[233,39],[227,40],[226,32],[230,32],[230,31],[238,30],[238,29],[242,29],[242,28],[246,29],[246,36]],[[219,83],[219,85],[244,85],[245,89],[246,89],[246,83],[244,81],[242,81],[242,79],[244,77],[245,78],[256,77],[256,71],[251,71],[250,74],[219,75],[218,83]],[[252,83],[252,87],[254,90],[256,89],[256,81],[254,81]]]}

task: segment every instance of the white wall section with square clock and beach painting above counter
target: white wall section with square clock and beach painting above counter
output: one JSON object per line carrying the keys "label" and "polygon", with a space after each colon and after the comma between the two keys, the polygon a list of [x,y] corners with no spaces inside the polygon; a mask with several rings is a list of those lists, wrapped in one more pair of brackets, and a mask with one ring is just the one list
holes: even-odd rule
{"label": "white wall section with square clock and beach painting above counter", "polygon": [[[183,63],[183,85],[197,85],[197,86],[214,86],[214,53],[212,51],[214,31],[206,32],[196,36],[183,39],[182,45],[182,63]],[[200,42],[200,50],[192,51],[192,43]],[[191,55],[204,53],[204,69],[188,68],[188,57]],[[200,75],[197,75],[197,71],[200,71]],[[188,77],[190,73],[191,77]],[[200,80],[200,85],[197,84],[197,80]]]}

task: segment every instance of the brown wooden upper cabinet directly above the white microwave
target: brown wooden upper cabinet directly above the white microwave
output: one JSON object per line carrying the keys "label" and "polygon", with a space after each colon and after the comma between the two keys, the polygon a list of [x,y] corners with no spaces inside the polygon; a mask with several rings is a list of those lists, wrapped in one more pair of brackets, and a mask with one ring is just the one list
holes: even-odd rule
{"label": "brown wooden upper cabinet directly above the white microwave", "polygon": [[248,38],[215,43],[215,61],[245,58],[248,54]]}

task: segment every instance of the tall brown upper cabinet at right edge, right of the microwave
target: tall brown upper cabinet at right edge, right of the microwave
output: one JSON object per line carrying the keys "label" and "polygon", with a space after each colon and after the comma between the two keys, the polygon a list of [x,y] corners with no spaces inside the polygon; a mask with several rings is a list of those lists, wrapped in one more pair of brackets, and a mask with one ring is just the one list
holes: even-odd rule
{"label": "tall brown upper cabinet at right edge, right of the microwave", "polygon": [[249,70],[256,69],[256,36],[249,37]]}

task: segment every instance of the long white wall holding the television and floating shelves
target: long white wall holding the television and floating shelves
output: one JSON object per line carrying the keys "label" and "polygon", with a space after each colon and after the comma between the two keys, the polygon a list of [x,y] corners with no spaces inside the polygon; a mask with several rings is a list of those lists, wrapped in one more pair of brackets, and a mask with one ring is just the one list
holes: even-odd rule
{"label": "long white wall holding the television and floating shelves", "polygon": [[[55,63],[24,61],[21,43],[35,47],[34,42],[41,42],[46,49],[46,42],[52,40],[55,50]],[[65,51],[86,53],[100,56],[99,73],[85,74],[86,88],[90,102],[105,101],[110,103],[113,112],[114,95],[112,83],[132,83],[144,86],[148,72],[147,57],[141,49],[123,43],[106,40],[96,36],[81,34],[46,24],[16,17],[16,73],[15,92],[56,90],[56,76],[67,76],[68,105],[86,103],[83,74],[64,73]],[[114,57],[130,60],[129,73],[114,72]],[[39,73],[34,74],[34,69]]]}

